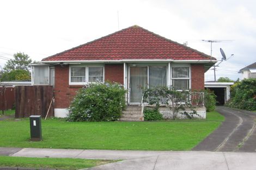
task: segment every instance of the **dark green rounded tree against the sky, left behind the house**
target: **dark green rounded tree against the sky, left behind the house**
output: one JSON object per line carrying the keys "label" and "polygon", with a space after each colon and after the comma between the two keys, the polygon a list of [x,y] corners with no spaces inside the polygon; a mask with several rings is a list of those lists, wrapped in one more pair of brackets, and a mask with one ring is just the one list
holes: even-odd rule
{"label": "dark green rounded tree against the sky, left behind the house", "polygon": [[29,71],[29,65],[32,60],[29,58],[27,54],[24,53],[16,53],[13,55],[14,60],[8,60],[7,64],[4,65],[4,72],[10,72],[12,70],[26,70]]}

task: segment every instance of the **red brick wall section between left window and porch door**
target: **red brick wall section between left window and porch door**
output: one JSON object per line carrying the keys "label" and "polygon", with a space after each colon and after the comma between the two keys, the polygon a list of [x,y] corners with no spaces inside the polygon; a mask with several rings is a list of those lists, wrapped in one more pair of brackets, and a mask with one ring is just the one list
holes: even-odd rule
{"label": "red brick wall section between left window and porch door", "polygon": [[124,64],[106,64],[105,81],[106,80],[124,84]]}

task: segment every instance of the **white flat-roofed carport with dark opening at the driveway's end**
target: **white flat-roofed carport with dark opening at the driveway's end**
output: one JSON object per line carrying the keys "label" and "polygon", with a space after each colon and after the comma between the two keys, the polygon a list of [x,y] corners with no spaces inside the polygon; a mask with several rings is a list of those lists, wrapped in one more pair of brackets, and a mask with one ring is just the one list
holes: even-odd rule
{"label": "white flat-roofed carport with dark opening at the driveway's end", "polygon": [[233,84],[233,82],[206,81],[204,87],[215,93],[217,105],[224,105],[230,98],[230,86]]}

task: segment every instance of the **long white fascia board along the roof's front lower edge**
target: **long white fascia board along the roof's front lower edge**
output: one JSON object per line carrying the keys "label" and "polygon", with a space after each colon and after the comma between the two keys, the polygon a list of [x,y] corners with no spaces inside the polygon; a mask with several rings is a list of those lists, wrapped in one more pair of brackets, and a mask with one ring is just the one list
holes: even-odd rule
{"label": "long white fascia board along the roof's front lower edge", "polygon": [[179,62],[179,63],[215,63],[217,60],[173,60],[173,59],[123,59],[123,60],[66,60],[66,61],[41,61],[42,64],[81,64],[81,63],[118,63],[118,62]]}

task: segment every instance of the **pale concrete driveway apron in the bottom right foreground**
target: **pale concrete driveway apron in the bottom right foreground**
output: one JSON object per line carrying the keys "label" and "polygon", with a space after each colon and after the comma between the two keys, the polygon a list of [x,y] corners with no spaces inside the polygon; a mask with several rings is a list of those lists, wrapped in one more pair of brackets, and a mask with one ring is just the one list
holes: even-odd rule
{"label": "pale concrete driveway apron in the bottom right foreground", "polygon": [[255,170],[256,153],[173,152],[88,168],[90,170]]}

